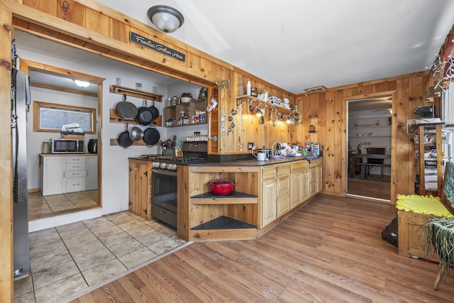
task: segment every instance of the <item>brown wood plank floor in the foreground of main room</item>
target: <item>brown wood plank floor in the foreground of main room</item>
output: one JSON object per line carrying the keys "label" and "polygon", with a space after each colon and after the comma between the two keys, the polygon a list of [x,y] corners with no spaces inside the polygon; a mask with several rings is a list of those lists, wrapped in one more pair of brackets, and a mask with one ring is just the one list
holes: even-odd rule
{"label": "brown wood plank floor in the foreground of main room", "polygon": [[453,302],[382,240],[393,206],[319,195],[256,241],[192,243],[72,302]]}

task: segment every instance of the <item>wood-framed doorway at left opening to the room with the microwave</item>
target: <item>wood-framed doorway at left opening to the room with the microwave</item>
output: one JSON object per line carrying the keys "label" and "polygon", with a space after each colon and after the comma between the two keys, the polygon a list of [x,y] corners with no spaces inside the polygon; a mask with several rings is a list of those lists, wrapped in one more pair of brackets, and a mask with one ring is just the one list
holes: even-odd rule
{"label": "wood-framed doorway at left opening to the room with the microwave", "polygon": [[[70,214],[74,211],[98,208],[101,206],[101,148],[97,153],[88,153],[87,142],[91,139],[99,140],[102,110],[102,81],[104,79],[79,72],[63,70],[60,67],[45,65],[31,60],[21,59],[21,68],[28,72],[31,84],[32,102],[28,117],[28,136],[27,136],[27,158],[28,158],[28,219],[43,219],[50,216],[60,216]],[[89,82],[88,87],[78,87],[74,80],[84,80]],[[84,138],[84,154],[77,156],[87,160],[84,162],[87,169],[87,177],[84,178],[84,188],[61,192],[59,194],[46,194],[40,189],[43,186],[43,176],[41,171],[45,163],[46,156],[40,148],[42,142],[49,142],[50,138],[60,138],[60,129],[40,129],[37,127],[38,104],[37,100],[48,101],[49,106],[67,106],[68,109],[85,106],[91,109],[92,130],[86,131]],[[84,107],[84,108],[85,108]],[[63,109],[63,107],[60,107]],[[59,156],[59,155],[52,155]],[[46,160],[49,160],[50,158]],[[66,158],[60,155],[60,158]],[[52,157],[55,159],[55,157]],[[82,165],[82,164],[81,164]],[[52,167],[52,170],[54,167]],[[79,171],[77,171],[79,172]]]}

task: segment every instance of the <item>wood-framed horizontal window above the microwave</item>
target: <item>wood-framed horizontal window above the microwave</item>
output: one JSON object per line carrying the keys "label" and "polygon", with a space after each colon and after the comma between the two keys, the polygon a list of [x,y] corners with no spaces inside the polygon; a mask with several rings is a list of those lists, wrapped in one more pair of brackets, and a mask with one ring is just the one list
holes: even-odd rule
{"label": "wood-framed horizontal window above the microwave", "polygon": [[33,131],[60,133],[62,126],[77,123],[84,133],[96,133],[96,109],[33,101]]}

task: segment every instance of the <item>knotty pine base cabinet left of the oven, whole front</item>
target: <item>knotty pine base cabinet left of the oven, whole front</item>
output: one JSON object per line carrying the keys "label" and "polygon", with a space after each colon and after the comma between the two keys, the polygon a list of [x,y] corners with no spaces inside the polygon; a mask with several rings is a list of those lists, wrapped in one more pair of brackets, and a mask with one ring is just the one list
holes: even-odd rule
{"label": "knotty pine base cabinet left of the oven, whole front", "polygon": [[151,162],[129,160],[129,210],[151,219]]}

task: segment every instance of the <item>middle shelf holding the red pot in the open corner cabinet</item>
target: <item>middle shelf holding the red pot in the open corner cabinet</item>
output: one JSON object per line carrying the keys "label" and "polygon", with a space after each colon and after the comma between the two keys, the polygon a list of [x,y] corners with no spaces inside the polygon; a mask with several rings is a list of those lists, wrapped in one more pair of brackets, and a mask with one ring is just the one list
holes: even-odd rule
{"label": "middle shelf holding the red pot in the open corner cabinet", "polygon": [[258,196],[244,192],[233,191],[230,194],[219,195],[211,192],[197,194],[191,197],[192,204],[257,204]]}

